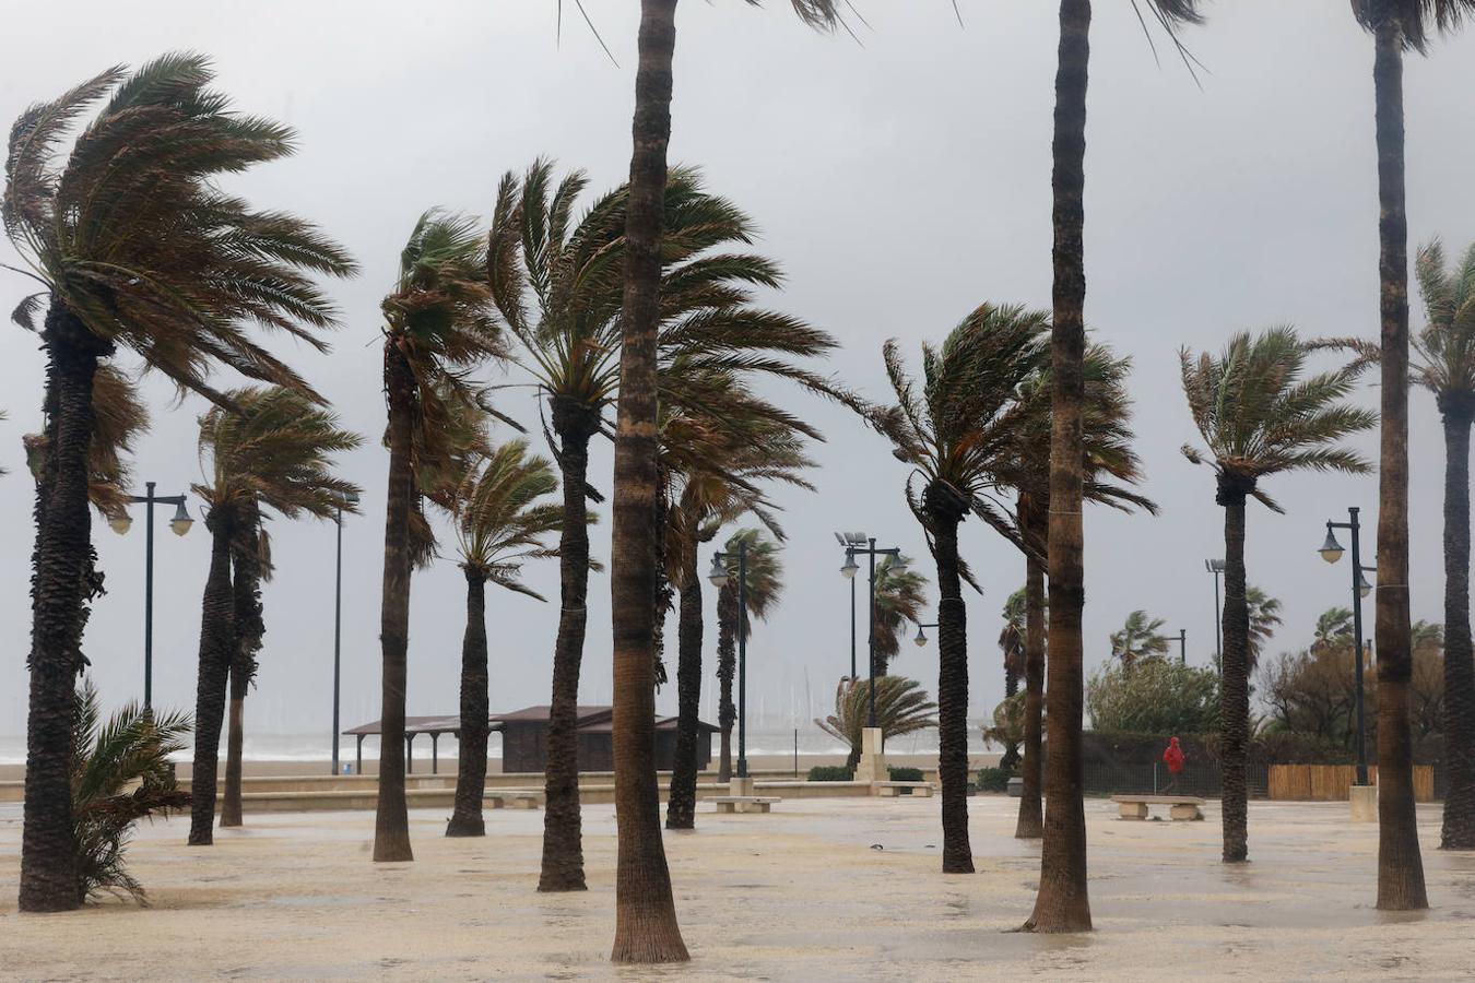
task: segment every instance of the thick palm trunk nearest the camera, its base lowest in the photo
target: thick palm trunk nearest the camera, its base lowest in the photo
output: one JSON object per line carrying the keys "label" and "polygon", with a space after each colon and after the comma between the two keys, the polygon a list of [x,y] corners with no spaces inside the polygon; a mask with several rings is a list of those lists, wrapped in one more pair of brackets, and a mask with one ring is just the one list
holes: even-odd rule
{"label": "thick palm trunk nearest the camera, its base lowest in the photo", "polygon": [[631,125],[630,206],[625,215],[625,290],[615,429],[611,595],[615,648],[615,962],[684,962],[671,874],[661,842],[655,774],[656,572],[656,327],[665,153],[671,139],[671,57],[676,0],[642,0],[640,62]]}

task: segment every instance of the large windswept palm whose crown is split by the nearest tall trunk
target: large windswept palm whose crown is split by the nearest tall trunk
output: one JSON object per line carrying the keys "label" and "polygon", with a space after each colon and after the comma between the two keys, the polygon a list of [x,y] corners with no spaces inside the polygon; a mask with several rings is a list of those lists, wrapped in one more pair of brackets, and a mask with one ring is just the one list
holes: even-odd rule
{"label": "large windswept palm whose crown is split by the nearest tall trunk", "polygon": [[[586,498],[597,498],[587,480],[589,444],[609,429],[605,413],[618,398],[622,374],[620,274],[631,192],[620,187],[596,197],[575,223],[574,209],[586,186],[580,171],[555,184],[553,164],[544,159],[535,161],[521,178],[506,174],[490,236],[491,292],[521,343],[521,361],[547,398],[558,438],[553,455],[563,473],[569,516],[559,545],[562,604],[549,702],[547,806],[538,877],[538,890],[546,892],[584,889],[574,728],[587,620],[589,534],[577,516],[587,508]],[[835,340],[752,302],[755,287],[782,284],[777,264],[746,251],[755,236],[752,220],[732,202],[708,193],[695,169],[676,169],[662,195],[665,231],[656,327],[661,405],[668,413],[696,408],[714,416],[714,407],[732,396],[730,389],[712,385],[714,376],[745,379],[760,373],[848,399],[848,393],[794,361],[822,355]],[[659,420],[655,426],[659,432]],[[549,444],[555,444],[552,435]],[[650,501],[658,503],[659,495]],[[650,556],[656,556],[653,545]],[[646,566],[652,563],[648,560]]]}

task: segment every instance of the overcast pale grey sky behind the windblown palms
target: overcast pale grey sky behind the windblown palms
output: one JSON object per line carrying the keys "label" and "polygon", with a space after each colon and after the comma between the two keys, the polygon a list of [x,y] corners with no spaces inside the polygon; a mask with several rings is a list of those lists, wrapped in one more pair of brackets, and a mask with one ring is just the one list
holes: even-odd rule
{"label": "overcast pale grey sky behind the windblown palms", "polygon": [[[9,6],[9,4],[7,4]],[[569,4],[565,4],[569,6]],[[242,111],[299,131],[301,150],[230,181],[260,206],[320,223],[363,265],[332,284],[345,330],[329,357],[295,364],[369,444],[342,461],[366,488],[347,525],[344,724],[378,716],[379,578],[386,455],[379,388],[379,299],[397,253],[428,206],[485,215],[497,177],[537,155],[589,171],[594,189],[624,180],[637,6],[586,0],[620,66],[572,13],[562,43],[553,0],[131,4],[55,0],[16,4],[0,63],[0,119],[50,99],[115,62],[176,49],[209,53],[218,84]],[[773,304],[842,340],[827,368],[882,395],[879,349],[941,339],[982,301],[1049,307],[1050,113],[1056,22],[1044,0],[950,4],[860,3],[861,44],[805,31],[771,0],[687,0],[677,15],[671,161],[701,165],[763,230],[760,248],[789,274]],[[1177,348],[1217,348],[1232,332],[1294,323],[1308,335],[1376,336],[1378,200],[1372,128],[1372,43],[1344,0],[1233,0],[1186,35],[1204,62],[1202,90],[1167,56],[1161,66],[1125,0],[1096,4],[1087,152],[1090,323],[1133,355],[1139,449],[1158,519],[1087,514],[1087,663],[1145,607],[1189,631],[1190,662],[1212,651],[1212,584],[1204,559],[1221,553],[1212,477],[1179,454],[1196,438],[1177,380]],[[1454,249],[1475,239],[1475,34],[1409,59],[1409,217],[1415,243],[1438,233]],[[0,245],[0,261],[13,255]],[[0,308],[30,292],[0,271]],[[1415,324],[1422,324],[1415,309]],[[31,482],[21,435],[40,420],[41,358],[19,329],[0,332],[0,734],[25,721]],[[518,379],[510,371],[506,380]],[[180,407],[150,379],[152,433],[137,476],[177,492],[199,479],[199,399]],[[925,547],[907,513],[906,469],[845,413],[792,392],[829,438],[816,449],[817,494],[782,491],[791,542],[788,591],[751,644],[749,706],[801,721],[805,685],[829,702],[848,666],[848,588],[833,529],[863,529],[914,556]],[[1373,391],[1361,398],[1375,399]],[[502,408],[535,424],[527,391]],[[1413,615],[1441,618],[1438,416],[1413,395]],[[1372,454],[1372,438],[1361,441]],[[609,449],[593,480],[608,489]],[[1361,506],[1372,523],[1376,480],[1288,476],[1267,483],[1288,510],[1252,506],[1249,576],[1285,603],[1274,650],[1304,644],[1316,615],[1348,600],[1347,562],[1314,553],[1328,517]],[[142,519],[142,516],[139,516]],[[162,516],[161,519],[167,519]],[[156,544],[155,703],[193,707],[199,601],[208,563],[202,526]],[[274,523],[277,578],[266,588],[267,638],[248,724],[327,732],[332,681],[333,528]],[[143,535],[94,523],[108,573],[86,651],[109,703],[142,690]],[[608,556],[609,523],[594,531]],[[1370,541],[1370,535],[1369,535]],[[1022,562],[981,523],[963,550],[984,585],[969,597],[972,716],[1000,699],[999,609]],[[1369,548],[1370,553],[1370,548]],[[705,563],[705,557],[704,557]],[[555,598],[490,598],[491,704],[543,703],[556,623],[555,564],[528,579]],[[609,697],[608,579],[590,590],[581,699]],[[709,601],[711,609],[711,601]],[[1369,609],[1370,612],[1370,609]],[[451,562],[414,579],[410,713],[454,712],[463,579]],[[711,688],[712,635],[708,632]],[[863,637],[863,635],[861,635]],[[674,632],[673,632],[674,638]],[[674,660],[673,660],[674,662]],[[895,665],[935,687],[937,648],[906,646]],[[674,685],[659,697],[674,712]],[[795,706],[795,702],[798,703]],[[783,719],[777,719],[782,716]]]}

